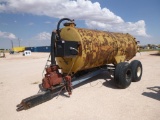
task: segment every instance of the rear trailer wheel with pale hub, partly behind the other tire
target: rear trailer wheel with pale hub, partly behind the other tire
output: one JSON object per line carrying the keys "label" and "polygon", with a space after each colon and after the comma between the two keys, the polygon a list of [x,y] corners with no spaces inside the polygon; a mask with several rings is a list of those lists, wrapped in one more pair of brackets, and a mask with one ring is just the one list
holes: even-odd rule
{"label": "rear trailer wheel with pale hub, partly behind the other tire", "polygon": [[141,62],[138,60],[133,60],[130,63],[130,66],[131,66],[131,70],[132,70],[132,82],[140,81],[141,77],[142,77],[142,72],[143,72]]}

